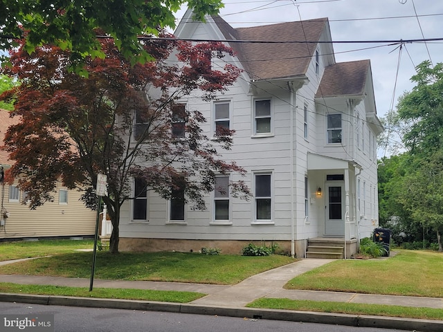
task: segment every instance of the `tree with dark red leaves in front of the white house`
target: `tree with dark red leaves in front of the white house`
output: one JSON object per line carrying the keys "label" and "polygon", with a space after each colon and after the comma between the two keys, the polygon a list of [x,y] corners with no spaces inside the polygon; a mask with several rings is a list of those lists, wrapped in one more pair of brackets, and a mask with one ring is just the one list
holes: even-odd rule
{"label": "tree with dark red leaves in front of the white house", "polygon": [[[114,227],[109,249],[116,253],[120,208],[135,198],[134,179],[143,183],[141,192],[174,199],[184,191],[189,203],[203,209],[204,195],[215,189],[215,174],[244,174],[219,154],[230,149],[233,132],[219,130],[209,139],[201,130],[204,116],[180,103],[197,92],[211,100],[240,71],[230,64],[219,71],[210,65],[211,59],[232,54],[221,43],[147,39],[143,48],[155,61],[135,65],[111,39],[101,43],[106,57],[84,60],[87,77],[73,73],[70,53],[55,46],[36,48],[31,55],[23,47],[13,51],[12,66],[4,72],[21,84],[0,98],[15,100],[12,116],[21,119],[5,142],[16,162],[10,176],[28,192],[30,208],[53,199],[57,181],[84,190],[91,206],[97,174],[107,175],[103,201]],[[230,187],[237,196],[249,195],[242,181]]]}

